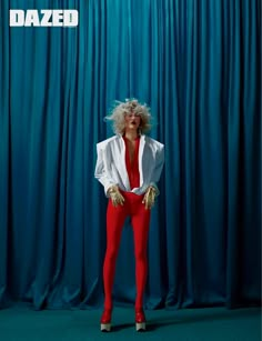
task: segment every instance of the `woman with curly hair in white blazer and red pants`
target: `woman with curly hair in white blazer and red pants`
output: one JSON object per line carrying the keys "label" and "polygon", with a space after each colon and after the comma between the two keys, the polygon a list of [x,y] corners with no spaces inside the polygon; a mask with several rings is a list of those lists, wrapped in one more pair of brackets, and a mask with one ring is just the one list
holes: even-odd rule
{"label": "woman with curly hair in white blazer and red pants", "polygon": [[164,146],[144,134],[150,130],[149,108],[138,100],[125,100],[107,119],[113,122],[115,136],[97,144],[94,177],[109,198],[107,211],[107,251],[103,263],[104,310],[101,330],[111,330],[112,288],[121,232],[131,217],[135,255],[135,327],[145,330],[143,292],[148,274],[147,244],[150,209],[159,194]]}

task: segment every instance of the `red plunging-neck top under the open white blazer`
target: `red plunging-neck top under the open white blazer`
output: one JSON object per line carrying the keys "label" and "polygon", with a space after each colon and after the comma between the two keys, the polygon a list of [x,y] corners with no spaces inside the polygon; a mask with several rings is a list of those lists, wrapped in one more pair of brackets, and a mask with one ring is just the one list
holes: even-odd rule
{"label": "red plunging-neck top under the open white blazer", "polygon": [[125,166],[127,171],[129,174],[129,182],[131,190],[133,188],[140,187],[140,174],[139,174],[139,144],[140,144],[140,137],[135,139],[135,148],[134,148],[134,156],[133,161],[131,163],[130,154],[129,154],[129,148],[128,148],[128,141],[125,137],[123,136],[123,140],[125,143]]}

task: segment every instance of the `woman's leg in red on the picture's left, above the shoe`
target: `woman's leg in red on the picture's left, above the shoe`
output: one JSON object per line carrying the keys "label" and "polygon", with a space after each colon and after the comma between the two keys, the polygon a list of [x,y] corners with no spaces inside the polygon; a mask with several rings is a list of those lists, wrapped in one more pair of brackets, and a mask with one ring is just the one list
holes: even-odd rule
{"label": "woman's leg in red on the picture's left, above the shoe", "polygon": [[113,207],[111,200],[107,211],[107,251],[103,263],[104,309],[112,309],[112,289],[121,232],[127,217],[127,203]]}

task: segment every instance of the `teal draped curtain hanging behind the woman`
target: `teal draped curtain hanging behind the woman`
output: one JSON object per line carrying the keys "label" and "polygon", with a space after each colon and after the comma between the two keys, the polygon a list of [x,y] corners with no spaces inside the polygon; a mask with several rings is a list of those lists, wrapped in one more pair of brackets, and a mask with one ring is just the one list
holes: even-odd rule
{"label": "teal draped curtain hanging behind the woman", "polygon": [[[9,9],[77,9],[78,28],[10,28]],[[95,143],[113,100],[151,107],[165,144],[145,307],[258,304],[261,1],[0,4],[0,307],[102,304]],[[114,282],[134,301],[129,221]]]}

